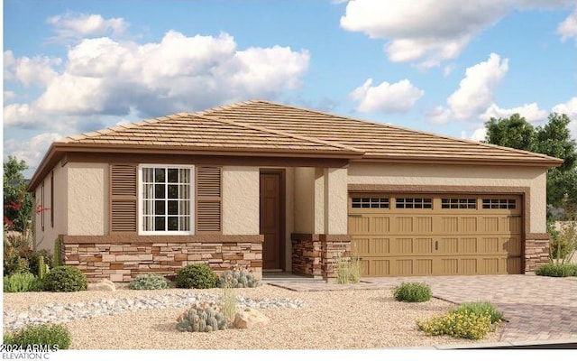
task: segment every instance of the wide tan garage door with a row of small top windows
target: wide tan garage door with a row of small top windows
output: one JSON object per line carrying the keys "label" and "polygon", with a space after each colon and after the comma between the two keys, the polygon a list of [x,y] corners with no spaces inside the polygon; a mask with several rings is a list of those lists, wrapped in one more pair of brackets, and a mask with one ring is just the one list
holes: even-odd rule
{"label": "wide tan garage door with a row of small top windows", "polygon": [[364,276],[521,273],[518,195],[352,193]]}

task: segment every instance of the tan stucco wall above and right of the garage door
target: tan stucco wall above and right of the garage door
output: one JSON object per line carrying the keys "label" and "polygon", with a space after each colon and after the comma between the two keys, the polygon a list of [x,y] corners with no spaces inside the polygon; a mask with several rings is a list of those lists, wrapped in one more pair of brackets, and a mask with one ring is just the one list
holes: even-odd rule
{"label": "tan stucco wall above and right of the garage door", "polygon": [[352,163],[350,184],[530,187],[530,232],[545,233],[546,170],[536,167]]}

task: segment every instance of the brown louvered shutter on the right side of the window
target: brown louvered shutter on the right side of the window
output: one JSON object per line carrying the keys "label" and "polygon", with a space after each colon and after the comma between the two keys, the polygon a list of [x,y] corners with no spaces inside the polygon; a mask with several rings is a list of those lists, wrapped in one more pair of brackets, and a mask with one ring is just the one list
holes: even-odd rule
{"label": "brown louvered shutter on the right side of the window", "polygon": [[197,166],[197,233],[222,232],[222,169]]}

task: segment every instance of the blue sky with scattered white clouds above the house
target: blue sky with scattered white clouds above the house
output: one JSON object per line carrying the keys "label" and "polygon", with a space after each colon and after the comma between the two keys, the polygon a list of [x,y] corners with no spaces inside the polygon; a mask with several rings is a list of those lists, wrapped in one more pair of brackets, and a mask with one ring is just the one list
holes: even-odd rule
{"label": "blue sky with scattered white clouds above the house", "polygon": [[[4,157],[252,98],[482,140],[491,116],[577,137],[577,2],[5,0]],[[30,173],[29,172],[29,173]]]}

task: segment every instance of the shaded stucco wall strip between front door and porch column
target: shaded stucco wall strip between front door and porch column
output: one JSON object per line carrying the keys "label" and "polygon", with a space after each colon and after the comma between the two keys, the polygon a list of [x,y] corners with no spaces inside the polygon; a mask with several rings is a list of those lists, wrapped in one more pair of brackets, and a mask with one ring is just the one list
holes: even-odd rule
{"label": "shaded stucco wall strip between front door and porch column", "polygon": [[315,168],[295,168],[294,233],[315,233]]}

